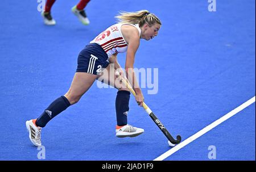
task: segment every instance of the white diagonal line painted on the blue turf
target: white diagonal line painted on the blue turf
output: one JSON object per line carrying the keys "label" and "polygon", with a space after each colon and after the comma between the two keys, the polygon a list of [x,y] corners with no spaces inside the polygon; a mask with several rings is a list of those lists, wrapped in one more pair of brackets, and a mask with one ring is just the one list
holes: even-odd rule
{"label": "white diagonal line painted on the blue turf", "polygon": [[251,104],[253,104],[255,102],[255,96],[253,98],[251,98],[250,100],[247,100],[247,102],[241,104],[240,106],[238,106],[237,108],[235,108],[234,110],[230,111],[228,114],[222,116],[220,119],[214,121],[212,124],[208,125],[207,127],[201,129],[201,131],[195,133],[195,135],[189,137],[188,139],[180,142],[180,144],[176,145],[174,148],[168,150],[167,152],[163,153],[161,156],[155,158],[154,161],[162,161],[165,158],[171,156],[171,154],[177,152],[177,150],[180,150],[181,148],[183,148],[185,145],[189,144],[190,142],[196,140],[198,137],[204,135],[205,133],[207,133],[208,131],[210,131],[211,129],[213,129],[214,127],[216,127],[217,125],[223,123],[225,120],[229,119],[230,117],[236,115],[238,112],[242,111],[244,108],[250,106]]}

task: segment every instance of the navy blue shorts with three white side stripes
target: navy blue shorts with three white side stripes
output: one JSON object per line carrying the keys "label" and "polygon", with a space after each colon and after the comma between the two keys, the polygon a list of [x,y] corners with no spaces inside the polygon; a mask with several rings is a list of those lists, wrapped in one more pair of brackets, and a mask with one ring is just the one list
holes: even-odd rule
{"label": "navy blue shorts with three white side stripes", "polygon": [[108,65],[108,55],[101,46],[96,43],[88,44],[79,53],[76,72],[97,75]]}

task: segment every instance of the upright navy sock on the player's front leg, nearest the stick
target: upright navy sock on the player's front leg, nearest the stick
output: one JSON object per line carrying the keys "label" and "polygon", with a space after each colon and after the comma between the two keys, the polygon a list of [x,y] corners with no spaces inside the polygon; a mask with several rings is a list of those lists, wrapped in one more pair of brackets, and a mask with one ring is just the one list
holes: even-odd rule
{"label": "upright navy sock on the player's front leg, nearest the stick", "polygon": [[117,114],[118,126],[123,126],[127,124],[129,100],[130,100],[129,91],[121,90],[117,92],[117,98],[115,98],[115,112]]}

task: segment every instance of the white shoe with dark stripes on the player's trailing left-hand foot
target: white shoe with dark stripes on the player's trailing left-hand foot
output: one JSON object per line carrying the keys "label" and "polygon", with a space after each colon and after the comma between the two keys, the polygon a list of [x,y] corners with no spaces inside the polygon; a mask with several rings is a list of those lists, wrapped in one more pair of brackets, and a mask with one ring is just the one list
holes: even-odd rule
{"label": "white shoe with dark stripes on the player's trailing left-hand foot", "polygon": [[32,142],[32,144],[34,144],[35,146],[41,146],[41,127],[36,127],[36,125],[33,123],[35,123],[35,120],[29,120],[26,121],[26,127],[28,132],[30,132],[30,141]]}

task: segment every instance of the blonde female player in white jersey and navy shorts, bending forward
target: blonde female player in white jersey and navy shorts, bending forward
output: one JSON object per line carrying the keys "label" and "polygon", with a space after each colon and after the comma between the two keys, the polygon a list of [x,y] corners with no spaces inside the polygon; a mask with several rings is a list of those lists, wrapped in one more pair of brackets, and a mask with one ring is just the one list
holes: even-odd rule
{"label": "blonde female player in white jersey and navy shorts, bending forward", "polygon": [[26,121],[29,137],[34,145],[42,145],[40,133],[49,120],[72,104],[79,102],[79,99],[96,79],[118,89],[115,99],[116,136],[135,137],[144,132],[142,128],[127,124],[130,92],[114,82],[115,72],[110,75],[110,66],[114,66],[114,70],[121,69],[117,61],[117,54],[126,52],[126,77],[136,93],[137,103],[142,106],[144,97],[133,70],[135,53],[139,48],[140,39],[151,40],[158,35],[161,22],[157,16],[147,10],[121,12],[116,18],[119,20],[117,24],[100,33],[79,53],[77,70],[68,92],[54,100],[39,118]]}

